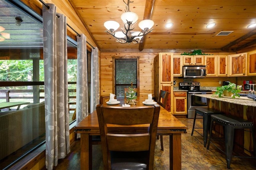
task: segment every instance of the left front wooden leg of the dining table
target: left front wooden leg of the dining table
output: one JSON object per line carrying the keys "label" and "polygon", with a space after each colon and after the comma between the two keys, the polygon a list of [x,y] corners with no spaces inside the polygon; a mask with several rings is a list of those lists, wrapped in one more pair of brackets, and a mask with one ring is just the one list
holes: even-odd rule
{"label": "left front wooden leg of the dining table", "polygon": [[89,134],[81,133],[80,137],[81,143],[81,156],[80,156],[80,164],[81,170],[89,170]]}

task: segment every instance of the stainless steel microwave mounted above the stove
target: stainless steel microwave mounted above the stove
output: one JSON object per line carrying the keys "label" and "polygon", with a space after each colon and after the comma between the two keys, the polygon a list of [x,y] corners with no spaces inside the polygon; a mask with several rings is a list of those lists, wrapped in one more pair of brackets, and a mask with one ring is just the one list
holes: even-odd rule
{"label": "stainless steel microwave mounted above the stove", "polygon": [[205,78],[206,66],[183,66],[184,78]]}

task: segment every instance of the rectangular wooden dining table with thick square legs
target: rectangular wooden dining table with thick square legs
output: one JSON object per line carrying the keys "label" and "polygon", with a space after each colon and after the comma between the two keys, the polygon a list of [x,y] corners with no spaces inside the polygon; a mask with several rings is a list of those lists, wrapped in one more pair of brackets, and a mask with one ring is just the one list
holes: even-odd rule
{"label": "rectangular wooden dining table with thick square legs", "polygon": [[[145,100],[147,98],[138,98],[135,105],[130,107],[145,106]],[[108,102],[103,103],[106,105]],[[155,102],[156,103],[156,102]],[[111,104],[112,106],[123,106],[125,104],[124,99],[118,99],[117,104]],[[148,105],[148,104],[147,104]],[[132,127],[131,127],[132,128]],[[134,127],[133,127],[134,128]],[[168,135],[170,145],[170,170],[181,170],[181,134],[186,132],[187,126],[180,122],[170,112],[160,106],[160,114],[158,119],[157,134]],[[89,116],[84,118],[81,122],[76,124],[75,130],[80,133],[80,164],[81,170],[90,170],[92,168],[92,136],[100,135],[100,129],[98,124],[98,117],[96,110]],[[164,151],[163,151],[164,152]]]}

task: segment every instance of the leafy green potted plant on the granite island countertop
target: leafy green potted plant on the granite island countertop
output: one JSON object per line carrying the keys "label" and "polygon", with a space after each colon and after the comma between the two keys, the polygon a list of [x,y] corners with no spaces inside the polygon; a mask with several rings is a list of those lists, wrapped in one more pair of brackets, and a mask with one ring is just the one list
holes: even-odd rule
{"label": "leafy green potted plant on the granite island countertop", "polygon": [[214,93],[218,97],[223,96],[232,96],[232,98],[240,97],[239,92],[241,92],[241,87],[234,83],[229,82],[228,85],[217,87],[216,92]]}

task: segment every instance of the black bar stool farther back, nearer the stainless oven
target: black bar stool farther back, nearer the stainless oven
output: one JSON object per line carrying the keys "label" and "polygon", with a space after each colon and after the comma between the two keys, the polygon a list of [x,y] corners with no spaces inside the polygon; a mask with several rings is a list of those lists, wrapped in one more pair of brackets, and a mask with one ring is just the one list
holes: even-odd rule
{"label": "black bar stool farther back, nearer the stainless oven", "polygon": [[[191,136],[193,135],[194,131],[200,134],[197,130],[195,129],[203,129],[203,136],[204,138],[204,147],[206,147],[207,144],[207,137],[208,137],[208,131],[210,130],[210,123],[211,123],[211,115],[212,114],[223,114],[222,112],[216,111],[212,108],[196,108],[195,109],[195,117],[194,117],[194,122],[193,122],[193,128],[191,132]],[[196,116],[203,116],[203,127],[202,128],[195,128],[196,124]]]}

